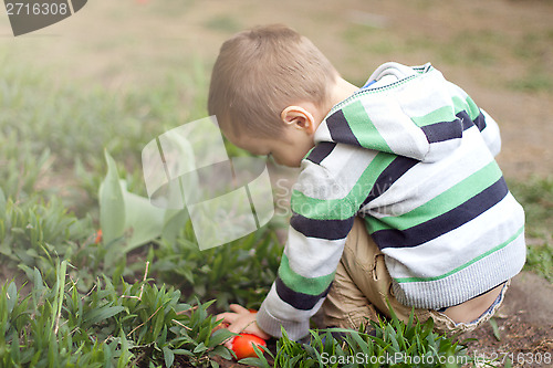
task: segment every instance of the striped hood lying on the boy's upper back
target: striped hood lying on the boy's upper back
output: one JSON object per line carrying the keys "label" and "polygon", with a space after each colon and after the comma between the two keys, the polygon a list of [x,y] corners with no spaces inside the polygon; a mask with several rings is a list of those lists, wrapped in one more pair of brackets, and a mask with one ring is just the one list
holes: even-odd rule
{"label": "striped hood lying on the boy's upper back", "polygon": [[315,144],[347,144],[435,161],[460,145],[472,123],[469,116],[479,114],[474,108],[470,97],[430,64],[390,62],[331,109],[315,132]]}

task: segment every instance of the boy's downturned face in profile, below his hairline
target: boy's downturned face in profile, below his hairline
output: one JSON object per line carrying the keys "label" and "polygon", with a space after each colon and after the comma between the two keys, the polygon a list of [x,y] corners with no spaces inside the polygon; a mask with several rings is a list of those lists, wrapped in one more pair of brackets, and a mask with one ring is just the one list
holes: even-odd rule
{"label": "boy's downturned face in profile, below his hairline", "polygon": [[237,147],[258,156],[271,156],[279,165],[300,167],[302,159],[314,147],[313,133],[285,126],[282,134],[274,138],[250,137],[244,134],[225,136]]}

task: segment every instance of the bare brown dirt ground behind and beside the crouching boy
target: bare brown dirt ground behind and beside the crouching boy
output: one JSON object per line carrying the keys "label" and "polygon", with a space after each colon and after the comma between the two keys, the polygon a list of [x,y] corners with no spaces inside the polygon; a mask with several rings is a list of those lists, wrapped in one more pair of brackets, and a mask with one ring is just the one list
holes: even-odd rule
{"label": "bare brown dirt ground behind and beside the crouching boy", "polygon": [[[307,35],[353,83],[386,61],[432,62],[498,120],[505,177],[525,178],[552,174],[553,92],[509,85],[532,73],[553,81],[552,15],[547,0],[95,0],[19,38],[0,17],[0,53],[48,70],[54,81],[125,93],[163,83],[168,71],[187,73],[198,61],[208,73],[229,35],[282,22]],[[529,46],[533,52],[520,56]],[[550,283],[517,276],[497,318],[501,340],[487,325],[471,335],[478,338],[471,351],[551,353],[552,301]]]}

